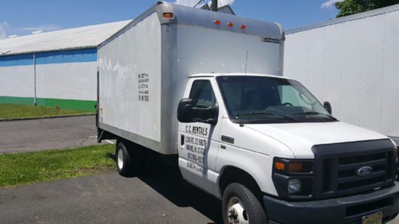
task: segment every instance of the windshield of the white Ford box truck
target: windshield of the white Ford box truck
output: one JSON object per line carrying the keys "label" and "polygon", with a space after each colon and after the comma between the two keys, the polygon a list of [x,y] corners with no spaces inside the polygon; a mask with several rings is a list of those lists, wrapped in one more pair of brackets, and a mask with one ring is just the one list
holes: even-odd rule
{"label": "windshield of the white Ford box truck", "polygon": [[216,78],[230,119],[236,123],[336,121],[297,81],[262,76]]}

